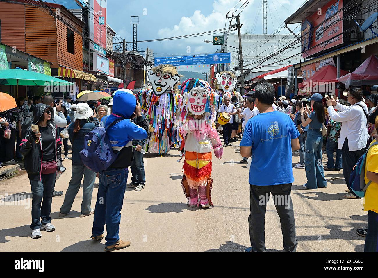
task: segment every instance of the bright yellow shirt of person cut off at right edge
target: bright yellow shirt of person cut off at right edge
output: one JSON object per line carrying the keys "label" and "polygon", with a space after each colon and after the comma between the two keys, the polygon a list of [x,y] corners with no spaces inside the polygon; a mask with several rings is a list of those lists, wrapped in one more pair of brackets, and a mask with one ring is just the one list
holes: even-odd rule
{"label": "bright yellow shirt of person cut off at right edge", "polygon": [[[373,140],[373,142],[377,141],[377,139]],[[366,155],[365,183],[367,184],[369,179],[366,178],[366,171],[378,173],[378,145],[371,147]],[[364,210],[378,213],[378,184],[376,182],[372,182],[366,189]]]}

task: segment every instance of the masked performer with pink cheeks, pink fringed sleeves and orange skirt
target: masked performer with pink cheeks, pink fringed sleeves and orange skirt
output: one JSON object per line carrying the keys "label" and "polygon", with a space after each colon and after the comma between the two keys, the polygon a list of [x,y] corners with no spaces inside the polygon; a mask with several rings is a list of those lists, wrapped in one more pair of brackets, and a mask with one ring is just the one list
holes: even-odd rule
{"label": "masked performer with pink cheeks, pink fringed sleeves and orange skirt", "polygon": [[211,202],[211,148],[218,159],[223,147],[213,122],[215,94],[209,83],[188,79],[182,84],[180,119],[181,135],[185,138],[184,177],[181,185],[189,207],[213,207]]}

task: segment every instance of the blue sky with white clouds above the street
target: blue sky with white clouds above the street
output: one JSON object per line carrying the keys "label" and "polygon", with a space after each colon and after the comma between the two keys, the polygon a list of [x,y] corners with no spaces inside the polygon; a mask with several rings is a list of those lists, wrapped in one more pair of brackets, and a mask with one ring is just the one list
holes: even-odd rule
{"label": "blue sky with white clouds above the street", "polygon": [[[66,6],[70,5],[67,3],[70,2],[69,0],[55,0],[55,2],[64,2]],[[281,28],[283,21],[305,2],[305,0],[268,0],[268,34]],[[132,42],[131,15],[139,15],[138,40],[149,40],[225,28],[225,25],[229,26],[229,22],[226,22],[226,13],[228,12],[229,15],[233,12],[235,15],[241,12],[242,34],[245,32],[249,34],[262,33],[262,0],[107,1],[107,23],[117,33],[114,42],[121,41],[121,39]],[[299,28],[296,31],[299,31]],[[284,28],[280,34],[288,32]],[[215,53],[219,46],[203,42],[204,39],[212,40],[213,35],[221,35],[221,33],[161,42],[141,42],[138,43],[138,50],[145,50],[149,47],[153,49],[154,56]],[[128,49],[132,48],[132,43],[128,43],[127,47]]]}

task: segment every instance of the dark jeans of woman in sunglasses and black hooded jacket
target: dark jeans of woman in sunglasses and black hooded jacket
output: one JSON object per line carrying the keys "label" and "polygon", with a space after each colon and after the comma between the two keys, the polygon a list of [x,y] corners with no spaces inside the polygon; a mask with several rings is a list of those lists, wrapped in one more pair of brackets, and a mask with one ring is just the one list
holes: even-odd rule
{"label": "dark jeans of woman in sunglasses and black hooded jacket", "polygon": [[[40,229],[43,225],[51,223],[51,201],[53,200],[53,191],[55,187],[56,173],[41,175],[40,181],[30,179],[31,193],[31,225],[30,229]],[[43,202],[42,202],[43,198]],[[42,203],[42,207],[41,207]],[[40,221],[42,219],[42,223]]]}

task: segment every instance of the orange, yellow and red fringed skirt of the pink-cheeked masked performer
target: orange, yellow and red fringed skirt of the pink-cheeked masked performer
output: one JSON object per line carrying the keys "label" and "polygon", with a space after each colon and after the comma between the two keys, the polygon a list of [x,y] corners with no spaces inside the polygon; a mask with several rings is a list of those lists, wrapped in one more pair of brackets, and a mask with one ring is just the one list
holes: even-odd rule
{"label": "orange, yellow and red fringed skirt of the pink-cheeked masked performer", "polygon": [[200,186],[206,186],[206,197],[213,207],[210,196],[212,189],[211,168],[211,152],[186,151],[183,167],[184,177],[181,186],[186,197],[189,197],[189,188],[198,189]]}

